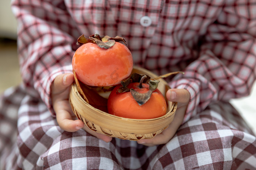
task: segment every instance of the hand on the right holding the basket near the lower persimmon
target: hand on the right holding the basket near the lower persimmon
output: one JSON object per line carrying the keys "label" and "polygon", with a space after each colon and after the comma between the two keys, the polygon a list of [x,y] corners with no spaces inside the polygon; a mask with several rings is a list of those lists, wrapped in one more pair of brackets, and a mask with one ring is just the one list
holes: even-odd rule
{"label": "hand on the right holding the basket near the lower persimmon", "polygon": [[138,141],[139,144],[143,144],[145,146],[165,144],[172,139],[182,124],[190,100],[190,93],[185,89],[173,88],[166,92],[166,98],[171,102],[178,103],[172,123],[170,123],[169,126],[163,130],[161,134],[156,135],[153,139],[142,139]]}

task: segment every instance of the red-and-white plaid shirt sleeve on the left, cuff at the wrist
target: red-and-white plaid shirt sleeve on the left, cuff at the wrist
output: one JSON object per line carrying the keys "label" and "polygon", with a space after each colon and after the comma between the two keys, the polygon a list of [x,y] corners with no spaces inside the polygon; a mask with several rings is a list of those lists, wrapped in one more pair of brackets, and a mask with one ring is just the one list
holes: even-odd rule
{"label": "red-and-white plaid shirt sleeve on the left, cuff at the wrist", "polygon": [[20,72],[26,91],[41,98],[54,115],[50,85],[63,73],[72,73],[72,56],[79,37],[74,21],[61,0],[12,1],[18,21]]}

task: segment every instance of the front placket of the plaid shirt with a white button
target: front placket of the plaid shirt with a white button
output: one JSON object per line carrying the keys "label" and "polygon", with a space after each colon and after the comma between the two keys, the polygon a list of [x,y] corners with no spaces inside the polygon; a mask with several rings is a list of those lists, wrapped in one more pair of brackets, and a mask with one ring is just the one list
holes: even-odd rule
{"label": "front placket of the plaid shirt with a white button", "polygon": [[[161,14],[163,1],[136,0],[110,1],[112,17],[116,21],[116,33],[125,37],[134,63],[143,66]],[[110,14],[110,13],[109,13]]]}

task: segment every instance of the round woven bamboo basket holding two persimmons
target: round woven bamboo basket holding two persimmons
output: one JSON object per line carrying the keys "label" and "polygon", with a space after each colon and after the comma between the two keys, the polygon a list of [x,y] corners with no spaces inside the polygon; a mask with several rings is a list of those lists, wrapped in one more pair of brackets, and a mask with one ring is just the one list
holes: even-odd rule
{"label": "round woven bamboo basket holding two persimmons", "polygon": [[[133,72],[147,74],[151,79],[158,75],[140,67],[133,67]],[[132,72],[132,73],[133,73]],[[160,78],[158,89],[165,96],[166,91],[170,89],[167,82]],[[82,120],[89,129],[110,137],[139,141],[140,139],[152,139],[155,135],[166,129],[174,118],[177,109],[177,103],[166,100],[167,112],[165,115],[154,119],[129,119],[108,114],[87,103],[76,88],[74,82],[70,94],[69,103],[78,119]],[[107,107],[107,106],[105,106]]]}

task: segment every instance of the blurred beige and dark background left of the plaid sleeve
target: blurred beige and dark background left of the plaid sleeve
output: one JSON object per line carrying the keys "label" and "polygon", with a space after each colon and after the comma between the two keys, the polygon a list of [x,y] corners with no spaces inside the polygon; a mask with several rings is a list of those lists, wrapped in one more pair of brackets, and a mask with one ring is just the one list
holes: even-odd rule
{"label": "blurred beige and dark background left of the plaid sleeve", "polygon": [[0,0],[0,93],[21,82],[16,46],[17,23],[11,0]]}

